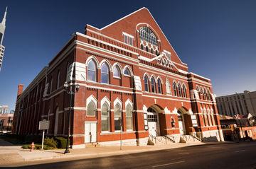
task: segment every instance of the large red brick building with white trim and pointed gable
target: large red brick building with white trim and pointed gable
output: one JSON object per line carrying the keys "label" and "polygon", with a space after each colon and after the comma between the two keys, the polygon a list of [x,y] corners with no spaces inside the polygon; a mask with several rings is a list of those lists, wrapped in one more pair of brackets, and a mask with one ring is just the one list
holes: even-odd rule
{"label": "large red brick building with white trim and pointed gable", "polygon": [[[65,81],[80,86],[71,107]],[[74,33],[25,91],[18,86],[13,132],[41,134],[46,119],[48,136],[67,136],[70,108],[73,148],[119,144],[120,134],[130,145],[149,136],[223,141],[210,79],[188,72],[147,8]]]}

